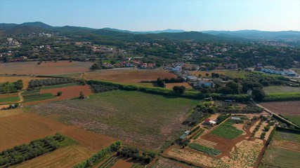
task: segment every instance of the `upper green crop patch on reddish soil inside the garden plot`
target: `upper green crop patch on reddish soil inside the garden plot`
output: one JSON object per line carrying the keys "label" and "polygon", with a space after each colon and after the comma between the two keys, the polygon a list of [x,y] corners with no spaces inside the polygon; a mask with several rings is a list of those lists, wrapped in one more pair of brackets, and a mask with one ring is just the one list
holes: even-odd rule
{"label": "upper green crop patch on reddish soil inside the garden plot", "polygon": [[235,139],[240,137],[240,135],[242,135],[244,132],[242,132],[242,130],[237,130],[236,127],[233,127],[233,124],[235,123],[226,121],[225,123],[222,123],[216,127],[216,129],[212,130],[210,133],[226,139]]}

